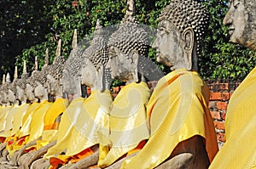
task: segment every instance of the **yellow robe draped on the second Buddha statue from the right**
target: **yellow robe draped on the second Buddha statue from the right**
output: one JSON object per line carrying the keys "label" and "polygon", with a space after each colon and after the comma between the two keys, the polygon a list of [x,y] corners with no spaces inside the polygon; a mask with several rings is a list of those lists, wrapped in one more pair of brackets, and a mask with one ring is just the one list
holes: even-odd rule
{"label": "yellow robe draped on the second Buddha statue from the right", "polygon": [[150,138],[121,168],[154,168],[172,154],[178,143],[195,135],[206,138],[212,161],[218,144],[208,100],[209,90],[195,71],[179,69],[162,77],[147,106]]}

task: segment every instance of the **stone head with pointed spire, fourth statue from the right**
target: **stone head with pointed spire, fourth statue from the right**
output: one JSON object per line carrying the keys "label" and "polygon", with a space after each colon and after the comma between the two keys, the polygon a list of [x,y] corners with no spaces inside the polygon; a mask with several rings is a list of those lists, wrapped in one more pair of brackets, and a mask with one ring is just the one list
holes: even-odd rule
{"label": "stone head with pointed spire, fourth statue from the right", "polygon": [[100,20],[97,20],[91,45],[84,50],[82,65],[82,83],[91,90],[104,91],[110,87],[109,69],[106,69],[108,45],[105,36],[106,32],[102,29]]}

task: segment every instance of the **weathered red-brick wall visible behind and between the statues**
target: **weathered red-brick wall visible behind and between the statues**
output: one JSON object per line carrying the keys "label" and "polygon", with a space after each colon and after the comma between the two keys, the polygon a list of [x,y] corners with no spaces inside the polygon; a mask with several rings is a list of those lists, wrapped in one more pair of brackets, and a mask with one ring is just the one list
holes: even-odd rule
{"label": "weathered red-brick wall visible behind and between the statues", "polygon": [[[148,82],[148,87],[151,91],[154,90],[157,82]],[[209,80],[206,81],[207,86],[210,89],[210,101],[209,109],[212,115],[212,120],[216,130],[216,136],[218,139],[218,146],[221,147],[224,144],[224,121],[227,111],[227,106],[230,101],[232,93],[234,93],[236,87],[240,82],[233,82],[230,80]],[[122,87],[113,87],[113,98],[119,93]],[[90,93],[90,88],[87,88],[87,93]]]}

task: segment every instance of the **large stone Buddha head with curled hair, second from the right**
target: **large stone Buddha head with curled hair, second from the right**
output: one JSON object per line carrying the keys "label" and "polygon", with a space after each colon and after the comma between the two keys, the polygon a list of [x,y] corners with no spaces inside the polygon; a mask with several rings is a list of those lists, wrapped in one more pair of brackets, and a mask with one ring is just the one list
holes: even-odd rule
{"label": "large stone Buddha head with curled hair, second from the right", "polygon": [[153,48],[157,61],[171,70],[197,70],[208,15],[194,0],[173,0],[160,14]]}

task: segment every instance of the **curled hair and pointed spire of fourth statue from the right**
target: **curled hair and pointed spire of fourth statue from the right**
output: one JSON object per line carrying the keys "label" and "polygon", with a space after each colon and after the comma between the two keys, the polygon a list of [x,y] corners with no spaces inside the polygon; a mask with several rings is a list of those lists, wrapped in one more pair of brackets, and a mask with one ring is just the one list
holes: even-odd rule
{"label": "curled hair and pointed spire of fourth statue from the right", "polygon": [[106,32],[102,29],[100,20],[97,20],[94,37],[89,48],[84,50],[84,58],[90,59],[96,68],[108,63],[108,44],[105,38]]}

